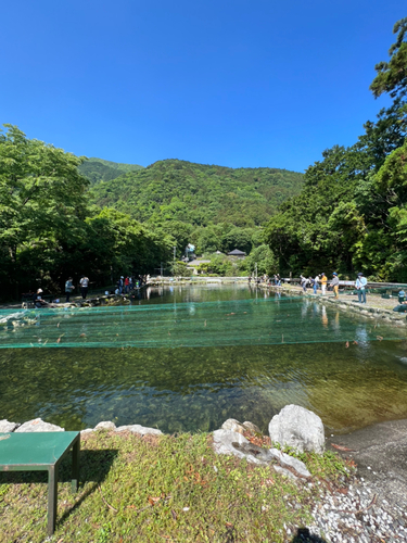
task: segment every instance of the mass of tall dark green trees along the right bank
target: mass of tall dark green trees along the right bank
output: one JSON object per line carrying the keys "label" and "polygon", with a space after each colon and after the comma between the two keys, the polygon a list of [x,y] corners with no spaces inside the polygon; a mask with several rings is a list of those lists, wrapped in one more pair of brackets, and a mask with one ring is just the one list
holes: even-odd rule
{"label": "mass of tall dark green trees along the right bank", "polygon": [[284,202],[266,239],[285,274],[320,272],[407,281],[407,17],[396,23],[390,61],[370,89],[390,108],[354,146],[334,146],[305,173],[301,194]]}

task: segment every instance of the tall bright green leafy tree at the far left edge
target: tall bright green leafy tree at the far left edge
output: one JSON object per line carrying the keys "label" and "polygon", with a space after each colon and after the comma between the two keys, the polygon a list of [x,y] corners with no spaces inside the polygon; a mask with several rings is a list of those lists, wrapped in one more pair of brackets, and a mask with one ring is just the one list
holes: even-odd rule
{"label": "tall bright green leafy tree at the far left edge", "polygon": [[[0,134],[0,247],[15,285],[22,279],[21,252],[75,243],[84,230],[89,181],[84,161],[62,149],[29,140],[12,125]],[[44,270],[38,270],[43,274]]]}

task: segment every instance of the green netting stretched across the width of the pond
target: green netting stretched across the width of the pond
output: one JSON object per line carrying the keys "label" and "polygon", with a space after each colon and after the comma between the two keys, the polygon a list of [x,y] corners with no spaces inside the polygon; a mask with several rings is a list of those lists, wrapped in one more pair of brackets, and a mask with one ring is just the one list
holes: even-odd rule
{"label": "green netting stretched across the width of the pond", "polygon": [[0,312],[0,348],[191,348],[404,339],[296,298]]}

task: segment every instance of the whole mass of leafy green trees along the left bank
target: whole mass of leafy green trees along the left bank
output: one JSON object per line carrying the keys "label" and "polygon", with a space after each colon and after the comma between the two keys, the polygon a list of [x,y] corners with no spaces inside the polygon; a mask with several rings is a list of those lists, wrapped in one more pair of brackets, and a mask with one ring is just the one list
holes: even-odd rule
{"label": "whole mass of leafy green trees along the left bank", "polygon": [[0,132],[0,293],[61,292],[87,274],[106,285],[120,273],[151,272],[168,260],[173,239],[128,215],[88,204],[84,157],[29,140],[15,126]]}

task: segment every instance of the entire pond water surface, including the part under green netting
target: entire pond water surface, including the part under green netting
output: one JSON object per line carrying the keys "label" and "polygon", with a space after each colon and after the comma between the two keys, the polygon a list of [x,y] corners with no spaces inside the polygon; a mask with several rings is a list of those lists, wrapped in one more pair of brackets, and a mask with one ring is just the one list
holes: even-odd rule
{"label": "entire pond water surface, including the part under green netting", "polygon": [[0,419],[175,432],[237,418],[266,431],[295,403],[339,433],[407,417],[406,331],[331,304],[219,285],[18,313],[0,328]]}

